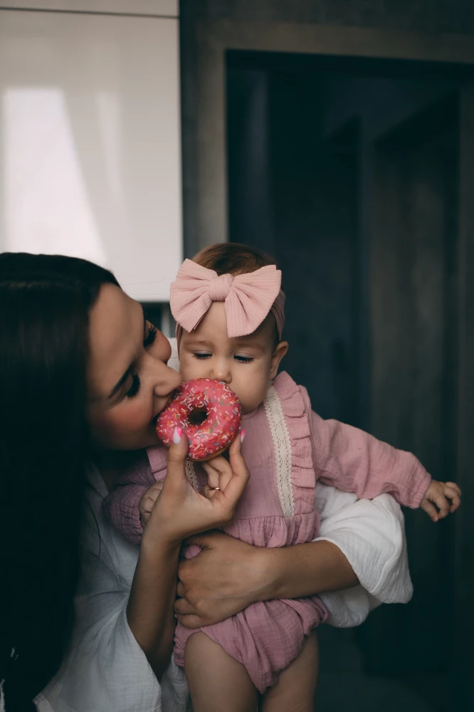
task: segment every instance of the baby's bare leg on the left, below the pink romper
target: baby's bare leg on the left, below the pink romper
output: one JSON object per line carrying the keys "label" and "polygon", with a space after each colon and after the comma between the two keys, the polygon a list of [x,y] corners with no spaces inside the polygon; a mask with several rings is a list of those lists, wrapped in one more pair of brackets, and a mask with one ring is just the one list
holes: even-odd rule
{"label": "baby's bare leg on the left, below the pink romper", "polygon": [[256,712],[258,694],[245,667],[205,633],[186,642],[184,672],[194,712]]}

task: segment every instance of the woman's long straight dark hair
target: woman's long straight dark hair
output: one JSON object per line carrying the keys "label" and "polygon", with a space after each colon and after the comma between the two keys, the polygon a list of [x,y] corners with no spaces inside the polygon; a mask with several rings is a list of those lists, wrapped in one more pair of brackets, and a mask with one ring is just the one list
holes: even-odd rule
{"label": "woman's long straight dark hair", "polygon": [[89,313],[107,270],[0,254],[0,681],[8,712],[68,652],[80,574],[90,437]]}

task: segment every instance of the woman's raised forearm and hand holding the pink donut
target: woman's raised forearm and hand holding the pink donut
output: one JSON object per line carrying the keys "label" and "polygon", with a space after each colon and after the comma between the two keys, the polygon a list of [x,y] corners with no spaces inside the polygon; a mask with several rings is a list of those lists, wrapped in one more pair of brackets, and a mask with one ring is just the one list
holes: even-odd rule
{"label": "woman's raised forearm and hand holding the pink donut", "polygon": [[[176,437],[169,449],[167,477],[161,492],[159,487],[152,488],[151,493],[147,491],[154,503],[142,536],[127,607],[130,629],[158,679],[172,652],[181,541],[231,521],[248,481],[240,438],[231,446],[230,464],[223,458],[214,461],[212,477],[217,478],[218,485],[214,490],[206,487],[204,495],[195,492],[186,477],[186,451],[186,438]],[[142,504],[146,513],[149,503]]]}

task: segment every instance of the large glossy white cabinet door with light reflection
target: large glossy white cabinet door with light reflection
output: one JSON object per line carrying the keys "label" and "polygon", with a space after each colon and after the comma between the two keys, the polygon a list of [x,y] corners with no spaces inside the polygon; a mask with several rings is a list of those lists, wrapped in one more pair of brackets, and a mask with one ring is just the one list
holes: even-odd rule
{"label": "large glossy white cabinet door with light reflection", "polygon": [[[111,4],[130,1],[41,2]],[[179,28],[159,6],[177,3],[133,6],[150,14],[0,10],[0,251],[82,256],[167,301],[182,253]]]}

